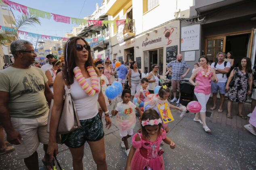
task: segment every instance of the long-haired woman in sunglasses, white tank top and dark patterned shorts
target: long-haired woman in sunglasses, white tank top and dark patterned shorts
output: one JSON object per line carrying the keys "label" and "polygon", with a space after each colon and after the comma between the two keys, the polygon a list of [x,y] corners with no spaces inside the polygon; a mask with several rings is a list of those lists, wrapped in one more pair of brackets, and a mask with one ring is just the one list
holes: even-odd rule
{"label": "long-haired woman in sunglasses, white tank top and dark patterned shorts", "polygon": [[[47,153],[50,158],[53,158],[53,154],[59,153],[56,131],[63,107],[63,95],[69,91],[65,84],[66,81],[67,84],[70,84],[71,96],[82,125],[74,131],[61,135],[61,142],[65,143],[71,152],[73,169],[83,169],[84,143],[87,141],[97,169],[107,170],[103,124],[98,112],[97,101],[105,112],[106,127],[111,127],[111,120],[101,91],[99,70],[93,64],[90,45],[82,37],[70,38],[65,44],[64,50],[65,69],[63,74],[65,79],[60,72],[55,78],[54,104],[50,118]],[[82,86],[86,88],[83,89]]]}

